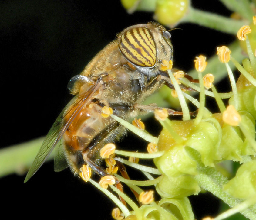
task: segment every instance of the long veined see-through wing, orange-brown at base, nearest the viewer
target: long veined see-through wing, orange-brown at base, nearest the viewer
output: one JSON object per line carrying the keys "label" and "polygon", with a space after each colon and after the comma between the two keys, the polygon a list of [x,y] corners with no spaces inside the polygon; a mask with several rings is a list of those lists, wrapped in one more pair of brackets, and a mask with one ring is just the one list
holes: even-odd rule
{"label": "long veined see-through wing, orange-brown at base, nearest the viewer", "polygon": [[[83,95],[83,97],[74,97],[68,105],[62,110],[62,112],[59,114],[58,118],[52,125],[50,131],[45,137],[45,140],[42,143],[42,146],[39,149],[39,152],[37,153],[35,160],[32,163],[31,168],[29,169],[27,176],[25,177],[24,183],[27,182],[35,173],[36,171],[42,166],[42,164],[45,162],[47,157],[51,154],[54,147],[56,147],[56,144],[60,141],[62,138],[62,135],[67,130],[69,125],[72,123],[72,121],[76,118],[78,113],[81,111],[83,106],[89,102],[93,94],[99,89],[99,87],[102,86],[100,83],[100,79],[97,80],[97,82],[90,88],[88,91]],[[80,98],[80,99],[79,99]],[[70,106],[72,107],[72,115],[70,118],[65,122],[63,121],[63,114],[65,113],[66,109]]]}

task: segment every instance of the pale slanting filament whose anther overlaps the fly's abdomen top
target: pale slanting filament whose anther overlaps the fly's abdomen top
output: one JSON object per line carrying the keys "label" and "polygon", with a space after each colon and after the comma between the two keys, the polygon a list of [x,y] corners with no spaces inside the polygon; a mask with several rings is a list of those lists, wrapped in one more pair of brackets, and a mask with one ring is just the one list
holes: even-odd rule
{"label": "pale slanting filament whose anther overlaps the fly's abdomen top", "polygon": [[111,117],[114,118],[116,121],[118,121],[124,127],[128,128],[133,133],[135,133],[138,136],[140,136],[141,138],[143,138],[144,140],[149,141],[149,142],[154,143],[154,144],[157,144],[157,142],[158,142],[157,137],[153,137],[152,135],[147,134],[146,132],[140,130],[139,128],[137,128],[136,126],[134,126],[134,125],[130,124],[129,122],[123,120],[122,118],[117,117],[116,115],[112,114]]}

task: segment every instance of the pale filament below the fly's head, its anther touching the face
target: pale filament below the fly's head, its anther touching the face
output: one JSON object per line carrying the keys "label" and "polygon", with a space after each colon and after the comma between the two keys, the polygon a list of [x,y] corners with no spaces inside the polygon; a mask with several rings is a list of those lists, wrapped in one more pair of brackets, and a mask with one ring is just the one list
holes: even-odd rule
{"label": "pale filament below the fly's head, its anther touching the face", "polygon": [[183,120],[190,120],[190,115],[189,115],[189,109],[187,107],[187,103],[185,101],[184,95],[182,94],[182,91],[180,89],[180,86],[178,84],[178,82],[176,81],[176,79],[174,78],[173,74],[171,73],[170,70],[167,70],[168,74],[170,76],[170,79],[173,82],[173,86],[177,92],[178,98],[180,100],[180,106],[183,112]]}

